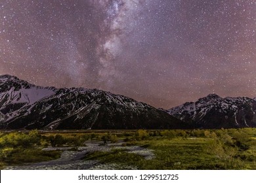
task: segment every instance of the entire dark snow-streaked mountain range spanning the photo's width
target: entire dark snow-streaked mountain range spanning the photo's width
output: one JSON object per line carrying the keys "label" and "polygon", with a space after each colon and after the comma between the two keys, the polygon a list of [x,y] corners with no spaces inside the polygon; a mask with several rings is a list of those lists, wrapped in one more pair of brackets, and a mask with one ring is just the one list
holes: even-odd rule
{"label": "entire dark snow-streaked mountain range spanning the photo's width", "polygon": [[96,89],[41,87],[0,76],[0,129],[256,127],[256,100],[207,95],[169,110]]}

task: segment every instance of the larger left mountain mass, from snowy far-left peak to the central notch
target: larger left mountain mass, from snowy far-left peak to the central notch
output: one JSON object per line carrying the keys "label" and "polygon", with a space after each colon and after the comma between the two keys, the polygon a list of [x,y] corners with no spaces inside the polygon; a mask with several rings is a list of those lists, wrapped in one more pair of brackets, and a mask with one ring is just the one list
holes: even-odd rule
{"label": "larger left mountain mass, from snowy far-left peak to the central notch", "polygon": [[47,88],[0,76],[0,129],[163,129],[187,125],[146,103],[102,90]]}

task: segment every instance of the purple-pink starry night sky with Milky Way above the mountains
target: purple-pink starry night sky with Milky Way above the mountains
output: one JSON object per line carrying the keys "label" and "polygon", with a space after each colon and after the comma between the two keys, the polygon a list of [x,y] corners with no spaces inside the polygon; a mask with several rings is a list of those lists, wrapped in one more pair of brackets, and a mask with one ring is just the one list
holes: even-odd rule
{"label": "purple-pink starry night sky with Milky Way above the mountains", "polygon": [[0,75],[170,108],[256,97],[255,0],[0,0]]}

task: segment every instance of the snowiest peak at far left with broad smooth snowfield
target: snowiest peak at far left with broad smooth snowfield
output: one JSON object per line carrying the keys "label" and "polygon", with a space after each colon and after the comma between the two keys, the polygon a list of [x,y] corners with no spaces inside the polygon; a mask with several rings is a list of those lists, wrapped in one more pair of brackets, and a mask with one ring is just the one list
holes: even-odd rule
{"label": "snowiest peak at far left with broad smooth snowfield", "polygon": [[43,88],[19,80],[15,76],[0,76],[0,122],[9,121],[30,112],[33,103],[53,95],[55,88]]}

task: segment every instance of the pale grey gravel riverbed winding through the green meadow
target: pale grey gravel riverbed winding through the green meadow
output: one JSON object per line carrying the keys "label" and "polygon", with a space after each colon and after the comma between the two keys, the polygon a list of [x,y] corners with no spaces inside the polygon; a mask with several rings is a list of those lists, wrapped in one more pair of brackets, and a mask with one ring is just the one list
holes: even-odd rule
{"label": "pale grey gravel riverbed winding through the green meadow", "polygon": [[95,151],[110,152],[112,149],[125,149],[129,153],[139,154],[144,156],[145,159],[154,158],[152,150],[142,148],[140,146],[121,146],[123,142],[116,142],[113,144],[106,144],[99,146],[102,142],[87,141],[87,146],[78,147],[77,151],[72,151],[72,147],[50,147],[43,150],[62,150],[60,158],[52,161],[43,161],[40,163],[29,163],[26,165],[9,166],[6,169],[16,170],[85,170],[85,169],[137,169],[137,167],[123,165],[119,163],[106,163],[102,164],[96,160],[85,161],[83,158],[86,154]]}

